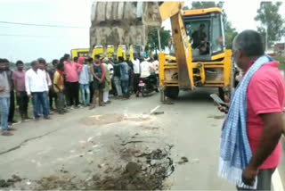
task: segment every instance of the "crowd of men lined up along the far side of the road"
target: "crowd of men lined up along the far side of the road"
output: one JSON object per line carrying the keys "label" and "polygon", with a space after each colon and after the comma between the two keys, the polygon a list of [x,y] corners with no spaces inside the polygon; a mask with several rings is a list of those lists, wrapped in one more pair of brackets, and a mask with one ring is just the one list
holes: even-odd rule
{"label": "crowd of men lined up along the far side of the road", "polygon": [[[131,94],[139,96],[140,78],[159,74],[159,61],[129,56],[117,59],[79,57],[72,61],[69,54],[53,60],[50,67],[45,59],[31,62],[26,71],[22,61],[16,62],[16,70],[10,69],[7,59],[0,59],[0,106],[3,136],[12,136],[15,105],[19,106],[21,121],[31,120],[28,103],[33,105],[34,119],[50,120],[53,112],[64,114],[80,105],[94,109],[97,105],[110,104],[110,93],[119,99]],[[81,95],[81,96],[79,96]],[[81,99],[79,100],[79,97]],[[98,100],[98,101],[97,101]]]}

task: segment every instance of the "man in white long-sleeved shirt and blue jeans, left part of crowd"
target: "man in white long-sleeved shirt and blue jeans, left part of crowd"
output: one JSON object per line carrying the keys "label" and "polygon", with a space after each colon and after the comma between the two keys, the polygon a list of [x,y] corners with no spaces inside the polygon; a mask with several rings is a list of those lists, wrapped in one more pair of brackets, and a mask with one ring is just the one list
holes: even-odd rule
{"label": "man in white long-sleeved shirt and blue jeans, left part of crowd", "polygon": [[38,65],[37,61],[31,62],[32,68],[25,74],[26,91],[33,101],[35,120],[39,120],[41,108],[43,108],[44,118],[49,120],[50,112],[47,102],[48,85],[46,74],[45,71],[38,69]]}

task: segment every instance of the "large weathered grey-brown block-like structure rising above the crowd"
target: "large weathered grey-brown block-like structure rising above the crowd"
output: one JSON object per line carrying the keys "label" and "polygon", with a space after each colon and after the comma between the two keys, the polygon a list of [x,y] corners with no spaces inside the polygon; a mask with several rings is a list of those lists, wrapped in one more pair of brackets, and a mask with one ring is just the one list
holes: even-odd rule
{"label": "large weathered grey-brown block-like structure rising above the crowd", "polygon": [[91,21],[91,47],[145,46],[151,28],[161,25],[156,2],[94,2]]}

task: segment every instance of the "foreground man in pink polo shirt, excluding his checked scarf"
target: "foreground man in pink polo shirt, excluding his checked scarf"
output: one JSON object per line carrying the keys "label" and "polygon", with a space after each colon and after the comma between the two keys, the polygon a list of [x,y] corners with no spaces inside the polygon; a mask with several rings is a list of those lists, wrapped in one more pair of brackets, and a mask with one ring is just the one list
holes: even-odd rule
{"label": "foreground man in pink polo shirt, excluding his checked scarf", "polygon": [[[241,32],[233,41],[232,53],[245,75],[251,65],[265,54],[262,37],[254,30]],[[271,189],[273,171],[281,162],[285,85],[278,65],[279,62],[275,61],[265,63],[248,85],[247,132],[253,155],[243,170],[242,179],[246,185],[252,185],[257,177],[256,190]],[[238,187],[238,190],[245,189]]]}

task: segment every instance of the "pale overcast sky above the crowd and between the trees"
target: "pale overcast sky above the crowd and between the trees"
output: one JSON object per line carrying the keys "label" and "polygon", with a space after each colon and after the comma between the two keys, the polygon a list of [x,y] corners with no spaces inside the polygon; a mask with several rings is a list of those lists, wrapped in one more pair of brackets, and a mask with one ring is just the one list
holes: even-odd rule
{"label": "pale overcast sky above the crowd and between the trees", "polygon": [[[0,0],[0,57],[12,62],[31,62],[44,57],[48,62],[73,48],[89,47],[92,0]],[[191,1],[186,3],[191,7]],[[232,26],[241,31],[256,29],[259,1],[225,1],[224,10]],[[285,2],[281,10],[285,18]],[[21,22],[57,27],[3,23]],[[168,29],[169,24],[164,23]],[[73,27],[73,28],[67,28]]]}

